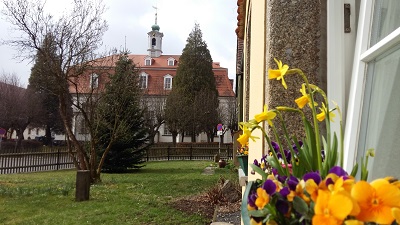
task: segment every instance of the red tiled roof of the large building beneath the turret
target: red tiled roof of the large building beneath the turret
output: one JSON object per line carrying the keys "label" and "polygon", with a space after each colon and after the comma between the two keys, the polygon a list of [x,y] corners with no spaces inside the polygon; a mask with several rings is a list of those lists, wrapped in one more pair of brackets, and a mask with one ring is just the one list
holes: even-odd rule
{"label": "red tiled roof of the large building beneath the turret", "polygon": [[[151,58],[152,62],[150,66],[145,65],[145,59],[149,58],[148,55],[128,55],[130,59],[140,68],[141,72],[148,74],[147,89],[145,94],[147,95],[167,95],[170,90],[164,90],[164,76],[169,74],[172,77],[176,75],[176,69],[178,68],[180,55],[161,55],[160,57]],[[168,65],[168,59],[175,59],[174,66]],[[117,60],[116,56],[108,56],[96,60],[92,65],[95,67],[114,67]],[[95,71],[95,69],[94,69]],[[104,70],[103,70],[104,71]],[[110,71],[109,71],[110,72]],[[215,82],[220,97],[234,97],[233,85],[228,77],[228,69],[221,67],[219,62],[213,63],[213,72],[215,76]],[[99,78],[99,87],[103,86],[102,83],[107,82],[105,77],[101,74]],[[89,87],[90,76],[85,77],[86,81],[80,81],[81,85]],[[173,88],[173,87],[172,87]],[[72,91],[72,89],[70,89]]]}

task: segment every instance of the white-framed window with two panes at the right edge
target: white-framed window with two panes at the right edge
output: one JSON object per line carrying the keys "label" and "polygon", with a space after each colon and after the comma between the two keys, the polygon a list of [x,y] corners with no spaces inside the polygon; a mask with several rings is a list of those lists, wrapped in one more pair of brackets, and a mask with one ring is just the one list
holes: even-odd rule
{"label": "white-framed window with two panes at the right edge", "polygon": [[[362,1],[346,125],[346,162],[361,163],[368,149],[369,179],[396,176],[400,169],[400,1]],[[372,26],[371,26],[372,24]],[[368,33],[368,35],[366,35]],[[351,170],[347,166],[347,170]]]}

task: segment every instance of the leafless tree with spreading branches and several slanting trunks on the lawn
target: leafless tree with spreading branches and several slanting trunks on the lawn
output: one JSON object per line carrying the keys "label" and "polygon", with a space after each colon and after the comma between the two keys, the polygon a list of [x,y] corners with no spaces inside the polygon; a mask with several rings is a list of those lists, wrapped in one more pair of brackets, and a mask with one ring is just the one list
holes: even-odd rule
{"label": "leafless tree with spreading branches and several slanting trunks on the lawn", "polygon": [[[4,0],[2,11],[5,19],[19,35],[4,43],[15,47],[22,59],[34,60],[39,53],[47,60],[54,80],[51,91],[59,98],[60,116],[68,137],[69,151],[77,151],[74,162],[79,170],[90,170],[92,182],[100,181],[96,170],[96,149],[91,142],[88,151],[75,136],[68,113],[70,106],[83,117],[89,133],[93,133],[92,117],[96,98],[94,88],[81,82],[92,68],[95,51],[101,45],[107,23],[102,19],[105,6],[101,0],[75,0],[69,13],[53,16],[44,11],[41,0]],[[42,48],[45,38],[52,36],[55,51]],[[54,54],[55,53],[55,54]],[[89,89],[82,90],[82,87]],[[85,95],[82,95],[85,93]],[[89,94],[88,94],[89,93]],[[81,100],[86,101],[81,101]],[[79,161],[79,163],[78,163]]]}

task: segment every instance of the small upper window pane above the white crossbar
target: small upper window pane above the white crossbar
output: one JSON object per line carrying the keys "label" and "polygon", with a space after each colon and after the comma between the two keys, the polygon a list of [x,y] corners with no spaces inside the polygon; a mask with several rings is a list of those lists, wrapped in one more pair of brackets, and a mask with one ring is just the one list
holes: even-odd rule
{"label": "small upper window pane above the white crossbar", "polygon": [[399,0],[375,0],[370,46],[400,27],[399,12]]}

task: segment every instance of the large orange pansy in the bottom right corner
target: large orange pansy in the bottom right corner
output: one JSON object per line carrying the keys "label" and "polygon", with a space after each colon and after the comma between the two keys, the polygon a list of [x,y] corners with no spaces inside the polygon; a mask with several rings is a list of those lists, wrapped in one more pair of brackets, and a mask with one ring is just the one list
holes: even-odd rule
{"label": "large orange pansy in the bottom right corner", "polygon": [[361,208],[356,216],[358,220],[392,224],[398,219],[395,218],[398,216],[397,210],[393,208],[400,208],[400,189],[386,179],[377,179],[371,183],[359,181],[353,186],[351,196]]}

